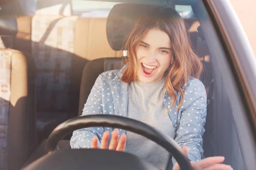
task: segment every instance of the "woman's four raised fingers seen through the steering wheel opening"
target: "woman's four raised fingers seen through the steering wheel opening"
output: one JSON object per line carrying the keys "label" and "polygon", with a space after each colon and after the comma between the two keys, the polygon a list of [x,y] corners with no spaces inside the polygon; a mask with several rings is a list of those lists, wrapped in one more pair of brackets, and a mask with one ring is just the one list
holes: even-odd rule
{"label": "woman's four raised fingers seen through the steering wheel opening", "polygon": [[[112,138],[110,141],[110,144],[108,146],[108,138],[109,138],[109,131],[105,131],[102,135],[102,141],[100,144],[100,149],[108,149],[108,150],[116,150],[123,152],[125,150],[125,145],[126,145],[126,135],[122,134],[119,141],[118,141],[118,136],[119,132],[118,130],[114,129],[112,133]],[[98,147],[98,139],[96,136],[93,136],[92,139],[92,148],[93,149],[99,149]]]}

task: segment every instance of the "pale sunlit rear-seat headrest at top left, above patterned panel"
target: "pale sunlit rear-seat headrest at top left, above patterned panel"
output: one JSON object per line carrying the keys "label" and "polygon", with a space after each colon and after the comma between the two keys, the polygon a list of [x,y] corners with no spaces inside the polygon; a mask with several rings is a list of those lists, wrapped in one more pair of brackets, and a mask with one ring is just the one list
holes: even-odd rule
{"label": "pale sunlit rear-seat headrest at top left, above patterned panel", "polygon": [[38,0],[35,14],[71,16],[70,0]]}

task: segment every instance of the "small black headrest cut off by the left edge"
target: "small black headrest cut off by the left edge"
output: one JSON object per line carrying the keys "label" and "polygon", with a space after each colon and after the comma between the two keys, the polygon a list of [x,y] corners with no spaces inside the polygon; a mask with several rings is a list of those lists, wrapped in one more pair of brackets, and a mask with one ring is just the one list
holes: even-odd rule
{"label": "small black headrest cut off by the left edge", "polygon": [[15,16],[0,16],[0,36],[15,36],[17,31],[17,20]]}

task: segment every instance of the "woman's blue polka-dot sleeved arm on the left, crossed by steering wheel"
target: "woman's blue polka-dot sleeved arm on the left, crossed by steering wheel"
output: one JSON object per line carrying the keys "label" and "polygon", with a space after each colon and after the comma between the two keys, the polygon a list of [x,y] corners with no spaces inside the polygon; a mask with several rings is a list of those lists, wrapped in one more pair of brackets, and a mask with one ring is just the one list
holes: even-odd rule
{"label": "woman's blue polka-dot sleeved arm on the left, crossed by steering wheel", "polygon": [[[96,79],[95,84],[88,96],[87,102],[84,105],[83,113],[81,116],[89,114],[102,114],[102,75]],[[93,136],[98,139],[98,145],[100,146],[100,141],[102,139],[102,134],[104,133],[103,127],[89,127],[73,132],[73,136],[70,139],[71,148],[89,148],[91,147],[91,142]]]}

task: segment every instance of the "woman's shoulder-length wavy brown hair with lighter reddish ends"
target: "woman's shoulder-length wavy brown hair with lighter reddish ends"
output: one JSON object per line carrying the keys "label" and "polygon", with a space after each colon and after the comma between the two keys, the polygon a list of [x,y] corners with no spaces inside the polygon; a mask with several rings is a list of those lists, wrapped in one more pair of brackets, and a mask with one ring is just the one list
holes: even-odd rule
{"label": "woman's shoulder-length wavy brown hair with lighter reddish ends", "polygon": [[[123,82],[138,81],[137,77],[137,56],[136,50],[143,34],[155,28],[168,34],[172,43],[172,63],[166,70],[166,92],[172,98],[169,109],[175,105],[176,92],[181,94],[181,101],[177,107],[182,105],[184,94],[183,86],[189,77],[199,78],[203,66],[199,57],[191,47],[188,31],[185,22],[180,15],[172,8],[156,7],[147,14],[140,17],[128,34],[125,49],[128,49],[128,68],[122,74]],[[168,110],[169,111],[169,110]]]}

